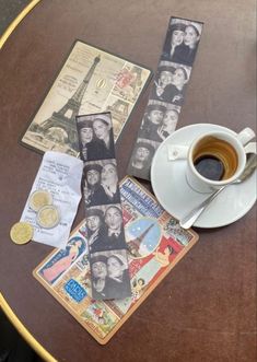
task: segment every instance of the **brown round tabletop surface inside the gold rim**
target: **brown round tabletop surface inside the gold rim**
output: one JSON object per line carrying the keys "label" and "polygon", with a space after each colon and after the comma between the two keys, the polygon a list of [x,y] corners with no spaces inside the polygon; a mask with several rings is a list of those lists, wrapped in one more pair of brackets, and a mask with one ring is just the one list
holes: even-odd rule
{"label": "brown round tabletop surface inside the gold rim", "polygon": [[[42,155],[17,143],[75,38],[156,68],[170,16],[205,22],[178,127],[256,128],[255,1],[42,0],[0,52],[0,291],[59,361],[256,361],[256,208],[200,241],[105,347],[33,278],[50,247],[16,246]],[[117,144],[120,177],[148,92]],[[256,129],[255,129],[256,130]],[[147,183],[144,183],[145,185]],[[83,218],[81,208],[74,224]]]}

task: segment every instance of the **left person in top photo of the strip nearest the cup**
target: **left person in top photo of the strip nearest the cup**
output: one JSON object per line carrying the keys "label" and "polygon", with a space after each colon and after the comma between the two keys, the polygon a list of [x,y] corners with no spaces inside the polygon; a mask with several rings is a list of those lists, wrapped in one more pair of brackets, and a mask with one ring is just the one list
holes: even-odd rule
{"label": "left person in top photo of the strip nearest the cup", "polygon": [[180,62],[183,54],[187,50],[184,45],[186,25],[183,23],[176,23],[171,25],[171,35],[167,36],[167,42],[164,46],[162,55],[163,60],[170,60],[172,62]]}

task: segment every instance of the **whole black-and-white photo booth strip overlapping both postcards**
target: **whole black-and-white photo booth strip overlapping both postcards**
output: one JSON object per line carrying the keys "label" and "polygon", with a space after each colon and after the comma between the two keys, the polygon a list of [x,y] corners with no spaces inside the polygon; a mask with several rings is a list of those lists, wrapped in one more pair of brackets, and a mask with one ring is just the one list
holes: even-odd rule
{"label": "whole black-and-white photo booth strip overlapping both postcards", "polygon": [[110,113],[77,116],[92,297],[131,295]]}

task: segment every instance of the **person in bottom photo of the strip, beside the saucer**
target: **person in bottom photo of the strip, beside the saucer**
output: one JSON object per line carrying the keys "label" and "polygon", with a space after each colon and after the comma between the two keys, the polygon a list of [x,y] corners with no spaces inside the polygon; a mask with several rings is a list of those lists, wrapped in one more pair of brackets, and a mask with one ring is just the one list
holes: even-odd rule
{"label": "person in bottom photo of the strip, beside the saucer", "polygon": [[149,168],[151,166],[154,154],[154,147],[147,142],[138,142],[133,151],[132,162],[129,166],[131,175],[141,175],[141,177],[149,176]]}

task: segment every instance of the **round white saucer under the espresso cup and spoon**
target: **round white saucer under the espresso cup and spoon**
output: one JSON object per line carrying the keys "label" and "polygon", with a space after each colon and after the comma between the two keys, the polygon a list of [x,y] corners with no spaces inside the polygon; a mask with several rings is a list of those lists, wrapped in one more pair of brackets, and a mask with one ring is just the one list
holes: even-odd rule
{"label": "round white saucer under the espresso cup and spoon", "polygon": [[[194,191],[186,182],[185,160],[168,161],[168,144],[189,144],[195,137],[207,131],[234,131],[218,125],[198,124],[178,129],[159,147],[151,167],[153,191],[161,206],[180,220],[203,201],[209,194]],[[203,211],[194,226],[219,227],[241,219],[256,200],[256,172],[243,184],[226,187]]]}

